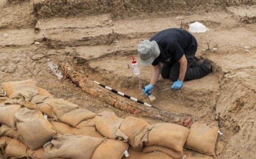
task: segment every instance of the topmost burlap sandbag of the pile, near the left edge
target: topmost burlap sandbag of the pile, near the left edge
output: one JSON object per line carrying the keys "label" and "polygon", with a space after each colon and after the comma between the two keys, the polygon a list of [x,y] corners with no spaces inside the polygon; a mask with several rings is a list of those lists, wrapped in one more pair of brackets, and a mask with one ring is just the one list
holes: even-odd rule
{"label": "topmost burlap sandbag of the pile, near the left edge", "polygon": [[10,99],[24,98],[30,101],[35,95],[38,95],[38,87],[32,80],[4,82],[4,91]]}

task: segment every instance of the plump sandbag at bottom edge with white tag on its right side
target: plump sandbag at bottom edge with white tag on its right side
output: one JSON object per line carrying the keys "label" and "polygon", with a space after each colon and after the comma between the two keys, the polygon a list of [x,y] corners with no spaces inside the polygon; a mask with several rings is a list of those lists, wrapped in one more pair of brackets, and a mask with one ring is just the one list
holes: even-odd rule
{"label": "plump sandbag at bottom edge with white tag on its right side", "polygon": [[107,139],[97,147],[91,159],[121,159],[128,147],[127,142]]}

